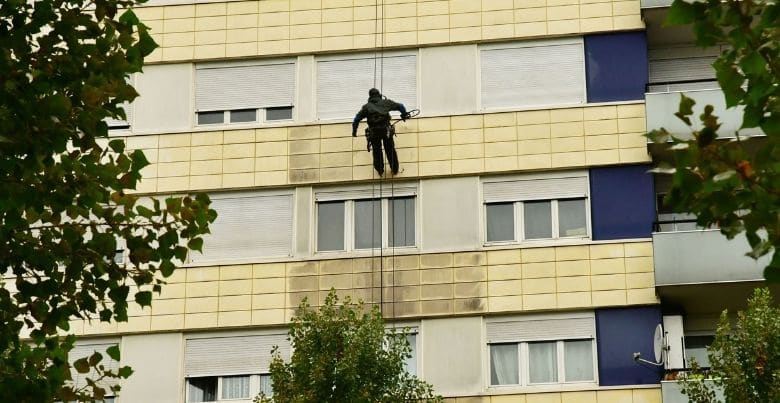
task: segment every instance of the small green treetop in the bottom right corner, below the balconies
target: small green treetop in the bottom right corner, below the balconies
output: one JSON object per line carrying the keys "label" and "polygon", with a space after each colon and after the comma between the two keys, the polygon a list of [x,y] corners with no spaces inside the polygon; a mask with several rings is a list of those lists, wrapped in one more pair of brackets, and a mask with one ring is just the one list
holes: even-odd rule
{"label": "small green treetop in the bottom right corner, below the balconies", "polygon": [[707,350],[710,370],[695,365],[693,374],[680,383],[690,401],[716,402],[718,388],[727,402],[780,401],[780,309],[773,306],[769,289],[753,292],[733,328],[724,311]]}

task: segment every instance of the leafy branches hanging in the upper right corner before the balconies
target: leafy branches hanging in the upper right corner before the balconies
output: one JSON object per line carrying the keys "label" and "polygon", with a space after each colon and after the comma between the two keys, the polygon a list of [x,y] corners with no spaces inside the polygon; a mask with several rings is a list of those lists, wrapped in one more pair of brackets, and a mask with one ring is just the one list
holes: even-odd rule
{"label": "leafy branches hanging in the upper right corner before the balconies", "polygon": [[[674,166],[666,202],[718,226],[729,239],[744,232],[749,256],[772,254],[764,277],[780,281],[780,3],[765,0],[675,0],[667,23],[691,24],[696,44],[727,44],[714,63],[728,107],[743,107],[742,128],[765,138],[720,141],[718,117],[706,106],[693,136],[672,138]],[[692,126],[694,101],[682,96],[676,116]],[[666,141],[666,130],[650,133]],[[759,147],[752,145],[756,144]]]}

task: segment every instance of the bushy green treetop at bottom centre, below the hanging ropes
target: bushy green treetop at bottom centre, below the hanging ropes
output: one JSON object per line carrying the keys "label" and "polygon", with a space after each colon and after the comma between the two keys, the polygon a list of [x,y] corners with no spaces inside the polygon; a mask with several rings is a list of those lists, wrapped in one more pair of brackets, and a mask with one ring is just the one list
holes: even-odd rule
{"label": "bushy green treetop at bottom centre, below the hanging ropes", "polygon": [[319,311],[304,300],[288,339],[294,348],[290,362],[278,348],[273,351],[273,399],[261,394],[256,402],[441,401],[431,385],[406,372],[406,332],[388,332],[377,306],[366,309],[349,297],[339,304],[334,290]]}

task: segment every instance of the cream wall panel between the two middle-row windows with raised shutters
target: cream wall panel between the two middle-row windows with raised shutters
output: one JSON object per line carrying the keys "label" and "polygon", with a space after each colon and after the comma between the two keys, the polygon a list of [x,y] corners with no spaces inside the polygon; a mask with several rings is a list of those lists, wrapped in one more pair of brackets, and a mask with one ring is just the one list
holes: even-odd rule
{"label": "cream wall panel between the two middle-row windows with raised shutters", "polygon": [[424,250],[469,250],[479,245],[478,191],[476,176],[421,181]]}

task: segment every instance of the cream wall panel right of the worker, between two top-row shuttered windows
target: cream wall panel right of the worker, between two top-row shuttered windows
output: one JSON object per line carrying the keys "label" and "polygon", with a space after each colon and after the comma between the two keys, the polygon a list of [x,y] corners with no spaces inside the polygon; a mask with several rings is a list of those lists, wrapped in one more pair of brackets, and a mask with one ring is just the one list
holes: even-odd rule
{"label": "cream wall panel right of the worker, between two top-row shuttered windows", "polygon": [[477,110],[476,45],[420,49],[420,111],[426,116]]}

